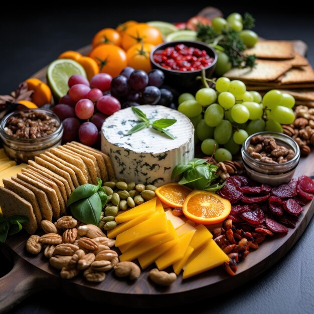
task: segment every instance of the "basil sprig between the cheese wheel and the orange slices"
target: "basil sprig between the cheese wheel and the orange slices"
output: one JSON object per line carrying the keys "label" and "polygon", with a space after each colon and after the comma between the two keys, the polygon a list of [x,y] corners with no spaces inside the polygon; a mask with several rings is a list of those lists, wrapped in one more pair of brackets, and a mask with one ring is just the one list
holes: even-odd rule
{"label": "basil sprig between the cheese wheel and the orange slices", "polygon": [[205,159],[194,158],[187,165],[179,164],[172,172],[172,179],[182,175],[179,184],[187,185],[192,189],[204,191],[220,190],[224,183],[220,182],[216,174],[218,167],[206,163]]}

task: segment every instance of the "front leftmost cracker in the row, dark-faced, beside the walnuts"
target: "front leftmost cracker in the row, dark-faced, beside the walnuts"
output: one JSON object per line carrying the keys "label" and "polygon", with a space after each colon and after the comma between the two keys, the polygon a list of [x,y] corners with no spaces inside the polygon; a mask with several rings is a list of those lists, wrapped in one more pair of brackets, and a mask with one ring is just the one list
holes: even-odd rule
{"label": "front leftmost cracker in the row, dark-faced, beside the walnuts", "polygon": [[36,232],[38,225],[30,202],[18,196],[16,193],[0,187],[0,206],[4,217],[13,215],[28,217],[29,221],[22,224],[23,228],[29,234],[34,234]]}

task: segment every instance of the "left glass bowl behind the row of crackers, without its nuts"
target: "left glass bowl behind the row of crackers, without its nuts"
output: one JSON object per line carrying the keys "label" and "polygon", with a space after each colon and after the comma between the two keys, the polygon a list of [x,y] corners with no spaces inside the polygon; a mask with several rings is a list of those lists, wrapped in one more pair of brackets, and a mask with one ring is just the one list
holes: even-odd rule
{"label": "left glass bowl behind the row of crackers, without its nuts", "polygon": [[[19,116],[20,112],[40,111],[58,121],[58,128],[51,134],[37,138],[17,138],[5,132],[7,121],[12,116]],[[47,109],[23,109],[6,115],[0,122],[0,138],[3,142],[6,154],[17,163],[27,163],[34,160],[51,147],[61,145],[63,125],[59,117]]]}

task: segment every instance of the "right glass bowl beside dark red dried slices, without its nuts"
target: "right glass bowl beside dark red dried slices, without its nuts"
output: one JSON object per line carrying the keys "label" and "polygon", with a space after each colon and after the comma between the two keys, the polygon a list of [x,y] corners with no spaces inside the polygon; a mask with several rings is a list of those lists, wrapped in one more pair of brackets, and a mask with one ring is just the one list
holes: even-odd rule
{"label": "right glass bowl beside dark red dried slices, without its nuts", "polygon": [[[283,164],[266,164],[252,158],[247,152],[251,138],[256,135],[271,136],[276,143],[294,151],[294,157]],[[298,144],[288,135],[277,132],[258,132],[250,135],[242,144],[241,156],[247,175],[254,181],[265,183],[270,186],[278,186],[289,182],[294,174],[295,168],[300,161],[300,149]]]}

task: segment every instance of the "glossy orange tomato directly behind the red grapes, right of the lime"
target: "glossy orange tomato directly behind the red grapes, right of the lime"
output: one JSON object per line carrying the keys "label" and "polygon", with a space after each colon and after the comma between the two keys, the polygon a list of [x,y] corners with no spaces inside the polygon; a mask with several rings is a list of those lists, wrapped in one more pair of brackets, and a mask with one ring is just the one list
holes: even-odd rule
{"label": "glossy orange tomato directly behind the red grapes, right of the lime", "polygon": [[126,54],[120,47],[111,44],[102,44],[95,47],[89,54],[94,59],[102,73],[108,73],[112,77],[120,74],[127,66]]}

